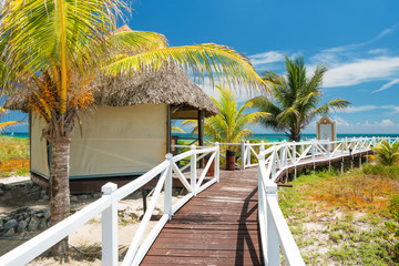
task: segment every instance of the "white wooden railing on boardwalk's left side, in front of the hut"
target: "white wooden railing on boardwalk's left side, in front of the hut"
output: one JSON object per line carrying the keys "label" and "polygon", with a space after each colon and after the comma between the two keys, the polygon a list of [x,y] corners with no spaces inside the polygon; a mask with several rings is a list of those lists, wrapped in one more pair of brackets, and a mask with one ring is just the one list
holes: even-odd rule
{"label": "white wooden railing on boardwalk's left side, in front of the hut", "polygon": [[[208,160],[208,163],[204,167],[201,175],[197,176],[197,161],[203,158],[206,154],[209,154],[211,158]],[[186,166],[190,167],[190,183],[187,182],[186,176],[183,174],[183,170],[178,168],[176,165],[176,162],[187,157],[191,161]],[[205,175],[213,162],[215,164],[214,175],[211,177],[211,180],[204,182]],[[116,185],[113,183],[105,184],[102,187],[103,196],[100,200],[93,202],[89,206],[74,213],[70,217],[50,227],[40,235],[7,253],[0,257],[0,265],[25,265],[99,214],[102,214],[102,264],[112,266],[119,265],[117,203],[156,177],[158,177],[158,181],[154,188],[153,196],[143,216],[143,219],[137,231],[135,232],[134,238],[123,259],[122,265],[139,265],[166,222],[172,219],[173,214],[193,196],[206,190],[212,184],[218,182],[218,144],[216,143],[214,147],[191,146],[191,151],[178,154],[174,157],[172,154],[166,154],[166,160],[164,162],[119,190],[116,190]],[[186,194],[174,205],[172,205],[173,177],[177,177],[188,191],[188,194]],[[149,236],[143,239],[162,188],[164,190],[164,214],[155,227],[151,231]]]}

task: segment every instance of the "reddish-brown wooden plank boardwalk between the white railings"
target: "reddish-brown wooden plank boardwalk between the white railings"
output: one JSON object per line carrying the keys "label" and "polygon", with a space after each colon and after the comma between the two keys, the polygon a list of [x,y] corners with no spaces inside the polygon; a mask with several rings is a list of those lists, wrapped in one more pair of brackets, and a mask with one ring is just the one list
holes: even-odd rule
{"label": "reddish-brown wooden plank boardwalk between the white railings", "polygon": [[141,265],[264,265],[257,167],[221,171],[161,232]]}

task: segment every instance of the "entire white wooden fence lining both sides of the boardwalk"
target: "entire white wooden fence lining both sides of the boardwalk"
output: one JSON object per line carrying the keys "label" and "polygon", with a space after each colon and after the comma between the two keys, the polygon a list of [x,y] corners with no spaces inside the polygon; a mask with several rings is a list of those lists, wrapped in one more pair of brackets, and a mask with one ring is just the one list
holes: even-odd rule
{"label": "entire white wooden fence lining both sides of the boardwalk", "polygon": [[[345,139],[340,141],[301,141],[301,142],[279,142],[279,143],[223,143],[221,145],[238,145],[242,151],[242,168],[258,165],[258,216],[260,227],[260,239],[263,254],[266,265],[279,265],[282,248],[287,265],[305,265],[299,249],[293,238],[289,227],[284,219],[283,213],[277,201],[276,178],[288,168],[303,164],[320,161],[336,160],[338,157],[356,155],[358,153],[368,153],[371,146],[380,141],[389,143],[398,142],[397,139],[388,137],[360,137]],[[122,265],[139,265],[161,229],[173,214],[181,208],[197,193],[206,190],[219,180],[219,144],[214,147],[195,147],[175,145],[180,147],[190,147],[191,151],[176,156],[166,155],[166,160],[142,175],[137,180],[116,190],[116,185],[109,183],[102,187],[103,196],[90,204],[85,208],[76,212],[66,219],[44,231],[31,241],[20,245],[13,250],[0,257],[0,265],[24,265],[45,252],[48,248],[70,235],[84,223],[89,222],[98,214],[102,214],[102,263],[103,265],[117,265],[117,202],[132,194],[151,180],[158,177],[154,188],[153,197],[143,216],[139,229],[132,241],[132,244],[123,259]],[[259,147],[259,152],[255,147]],[[196,164],[200,160],[209,154],[211,157],[204,171],[197,176]],[[255,154],[257,163],[250,161],[250,155]],[[267,157],[267,158],[266,158]],[[190,158],[190,164],[178,168],[176,163]],[[361,164],[361,156],[359,156]],[[215,162],[214,176],[204,183],[205,175],[211,164]],[[183,171],[190,167],[190,183]],[[172,181],[177,177],[187,188],[188,194],[181,198],[175,205],[172,205]],[[204,183],[204,184],[203,184]],[[164,187],[164,215],[157,222],[150,235],[143,241],[144,233],[149,225],[156,201]]]}

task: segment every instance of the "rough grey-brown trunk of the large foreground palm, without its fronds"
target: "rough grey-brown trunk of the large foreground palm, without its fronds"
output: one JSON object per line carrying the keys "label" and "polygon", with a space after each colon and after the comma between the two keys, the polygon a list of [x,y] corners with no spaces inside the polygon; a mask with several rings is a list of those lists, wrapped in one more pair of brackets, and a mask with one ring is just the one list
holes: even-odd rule
{"label": "rough grey-brown trunk of the large foreground palm, without its fronds", "polygon": [[[51,157],[51,224],[54,225],[70,215],[70,140],[52,143]],[[68,237],[51,248],[52,255],[63,256],[68,252]]]}

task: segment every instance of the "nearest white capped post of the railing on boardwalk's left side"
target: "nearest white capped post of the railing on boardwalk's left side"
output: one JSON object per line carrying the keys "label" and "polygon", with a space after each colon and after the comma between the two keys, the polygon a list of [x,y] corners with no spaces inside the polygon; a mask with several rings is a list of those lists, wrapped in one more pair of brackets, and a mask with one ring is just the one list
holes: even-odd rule
{"label": "nearest white capped post of the railing on boardwalk's left side", "polygon": [[116,266],[117,254],[117,197],[116,184],[111,182],[101,187],[103,197],[111,201],[110,207],[102,213],[102,265]]}

